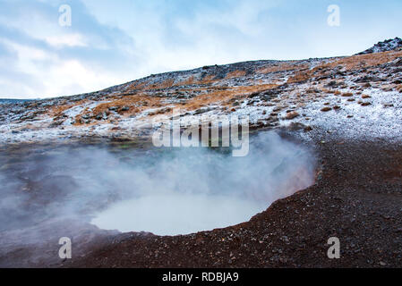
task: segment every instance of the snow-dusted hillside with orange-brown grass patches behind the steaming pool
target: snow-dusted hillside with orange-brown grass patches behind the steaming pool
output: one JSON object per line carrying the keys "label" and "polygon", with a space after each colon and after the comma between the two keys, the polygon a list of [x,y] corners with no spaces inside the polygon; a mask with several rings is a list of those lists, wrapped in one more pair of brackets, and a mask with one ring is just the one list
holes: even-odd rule
{"label": "snow-dusted hillside with orange-brown grass patches behind the steaming pool", "polygon": [[151,122],[177,107],[183,116],[249,115],[255,129],[292,123],[306,131],[398,137],[402,51],[390,47],[399,42],[364,55],[204,66],[90,94],[4,103],[0,143],[146,137],[158,128]]}

